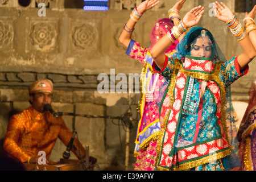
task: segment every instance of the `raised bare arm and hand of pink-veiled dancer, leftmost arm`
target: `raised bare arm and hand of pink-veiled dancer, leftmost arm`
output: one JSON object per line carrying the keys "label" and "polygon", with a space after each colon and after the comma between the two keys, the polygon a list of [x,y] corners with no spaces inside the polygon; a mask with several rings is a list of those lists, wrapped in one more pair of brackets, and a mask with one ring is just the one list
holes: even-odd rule
{"label": "raised bare arm and hand of pink-veiled dancer, leftmost arm", "polygon": [[[139,14],[145,13],[147,10],[151,9],[152,7],[158,5],[160,1],[157,0],[146,0],[141,3],[137,7],[137,11]],[[128,47],[129,43],[131,41],[131,35],[133,34],[134,27],[135,27],[136,22],[133,19],[129,19],[128,22],[126,23],[126,27],[124,27],[122,34],[119,36],[119,41],[125,46]],[[126,28],[126,29],[125,29]]]}

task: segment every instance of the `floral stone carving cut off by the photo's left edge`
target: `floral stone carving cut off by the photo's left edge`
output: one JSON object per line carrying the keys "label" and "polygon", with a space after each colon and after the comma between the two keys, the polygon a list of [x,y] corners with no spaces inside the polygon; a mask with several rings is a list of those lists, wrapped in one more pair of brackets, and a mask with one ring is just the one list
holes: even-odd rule
{"label": "floral stone carving cut off by the photo's left edge", "polygon": [[13,42],[13,26],[8,23],[0,22],[0,48],[9,46]]}

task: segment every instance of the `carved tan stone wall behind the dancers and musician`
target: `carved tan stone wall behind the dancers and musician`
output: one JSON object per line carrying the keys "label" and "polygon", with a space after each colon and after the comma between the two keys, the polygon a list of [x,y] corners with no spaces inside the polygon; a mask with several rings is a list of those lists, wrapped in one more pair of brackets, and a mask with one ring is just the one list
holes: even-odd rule
{"label": "carved tan stone wall behind the dancers and musician", "polygon": [[[71,1],[71,0],[70,0]],[[46,3],[46,16],[38,16],[40,2]],[[65,1],[67,3],[67,1]],[[31,0],[28,6],[17,1],[0,0],[0,139],[5,136],[10,113],[23,110],[28,103],[27,86],[37,79],[49,78],[55,86],[53,109],[75,114],[120,117],[129,109],[127,93],[97,91],[98,75],[141,73],[142,65],[125,54],[118,38],[129,19],[131,10],[140,0],[110,0],[108,11],[68,9],[64,0]],[[150,32],[156,20],[168,17],[167,11],[176,1],[161,1],[144,14],[137,23],[133,39],[150,46]],[[233,11],[235,1],[223,1]],[[241,48],[225,23],[211,16],[212,1],[189,0],[180,11],[181,17],[197,5],[205,7],[199,26],[208,28],[227,59],[239,55]],[[244,13],[236,13],[244,18]],[[247,91],[255,78],[255,63],[250,63],[248,75],[232,86],[236,101],[246,101]],[[129,169],[133,169],[133,148],[139,115],[140,94],[131,94],[133,129],[130,131]],[[102,169],[124,169],[126,127],[118,119],[64,116],[69,129],[75,129],[82,144],[90,147],[90,154],[98,158]],[[59,160],[65,146],[57,141],[51,160]],[[74,155],[71,158],[75,158]]]}

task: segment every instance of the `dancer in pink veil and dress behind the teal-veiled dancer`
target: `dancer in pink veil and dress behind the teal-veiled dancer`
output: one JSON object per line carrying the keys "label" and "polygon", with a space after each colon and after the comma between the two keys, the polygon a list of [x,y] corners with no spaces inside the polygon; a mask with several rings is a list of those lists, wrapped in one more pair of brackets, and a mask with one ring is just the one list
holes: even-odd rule
{"label": "dancer in pink veil and dress behind the teal-veiled dancer", "polygon": [[[156,143],[160,128],[162,127],[161,118],[159,117],[159,105],[165,101],[166,91],[169,82],[158,73],[152,71],[152,57],[150,49],[167,34],[168,30],[180,21],[179,10],[183,7],[185,0],[177,2],[169,13],[170,18],[159,19],[152,28],[150,34],[151,47],[143,47],[140,43],[131,39],[134,26],[139,18],[152,7],[158,5],[159,1],[144,1],[132,11],[130,19],[123,27],[123,32],[119,37],[120,42],[127,47],[126,54],[131,58],[142,63],[143,69],[141,74],[142,97],[139,101],[139,112],[141,119],[138,123],[137,137],[135,140],[134,156],[137,157],[135,170],[151,171],[155,169]],[[172,43],[165,55],[171,55],[176,48],[179,40]]]}

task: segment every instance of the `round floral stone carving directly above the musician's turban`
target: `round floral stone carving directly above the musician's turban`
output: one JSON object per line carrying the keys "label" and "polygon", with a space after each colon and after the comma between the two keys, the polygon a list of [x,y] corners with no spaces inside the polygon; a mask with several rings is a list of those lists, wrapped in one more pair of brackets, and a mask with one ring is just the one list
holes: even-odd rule
{"label": "round floral stone carving directly above the musician's turban", "polygon": [[31,27],[32,46],[40,51],[52,51],[56,46],[56,30],[51,23],[36,23]]}

